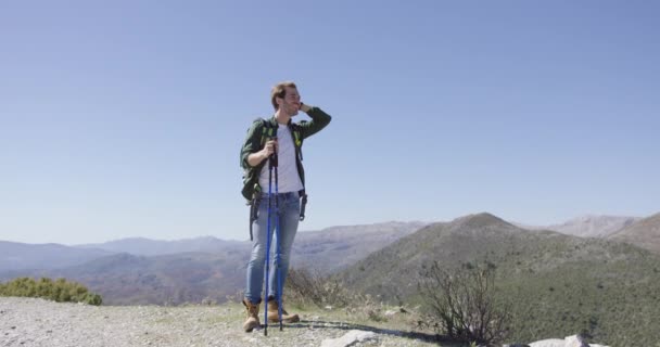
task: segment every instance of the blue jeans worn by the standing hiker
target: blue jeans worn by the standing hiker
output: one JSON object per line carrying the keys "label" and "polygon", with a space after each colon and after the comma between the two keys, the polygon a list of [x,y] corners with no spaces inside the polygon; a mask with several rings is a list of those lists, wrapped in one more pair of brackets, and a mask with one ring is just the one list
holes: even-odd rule
{"label": "blue jeans worn by the standing hiker", "polygon": [[[270,198],[268,198],[270,196]],[[270,201],[270,230],[268,229],[268,202]],[[248,262],[248,286],[245,298],[256,304],[262,299],[262,287],[265,277],[266,244],[270,237],[270,273],[268,279],[268,296],[277,297],[281,294],[278,288],[277,270],[281,275],[281,285],[284,287],[284,280],[289,272],[289,258],[293,239],[297,232],[300,221],[301,202],[297,192],[278,194],[279,208],[276,211],[275,194],[264,194],[259,203],[257,219],[253,224],[254,241],[252,243],[252,254]],[[279,217],[279,235],[275,233],[276,214]],[[275,237],[274,237],[275,235]],[[278,247],[279,241],[279,247]],[[279,248],[279,249],[278,249]]]}

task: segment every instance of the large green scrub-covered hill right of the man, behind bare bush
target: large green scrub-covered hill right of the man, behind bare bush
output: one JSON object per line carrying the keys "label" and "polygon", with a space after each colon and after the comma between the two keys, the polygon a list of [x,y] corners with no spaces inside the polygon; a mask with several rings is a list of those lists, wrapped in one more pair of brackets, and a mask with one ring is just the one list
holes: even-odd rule
{"label": "large green scrub-covered hill right of the man, behind bare bush", "polygon": [[660,320],[660,257],[623,243],[530,232],[490,214],[428,226],[339,278],[386,300],[419,303],[423,266],[484,260],[498,269],[500,297],[515,304],[513,339],[585,330],[613,346],[632,346],[630,336],[660,340],[651,323]]}

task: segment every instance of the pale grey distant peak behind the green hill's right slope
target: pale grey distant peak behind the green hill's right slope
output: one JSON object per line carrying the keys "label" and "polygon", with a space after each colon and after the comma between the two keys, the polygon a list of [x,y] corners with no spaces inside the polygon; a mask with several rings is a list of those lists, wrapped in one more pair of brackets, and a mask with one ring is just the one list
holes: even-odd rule
{"label": "pale grey distant peak behind the green hill's right slope", "polygon": [[561,224],[544,227],[544,229],[580,237],[608,237],[639,219],[642,218],[587,215],[573,218]]}

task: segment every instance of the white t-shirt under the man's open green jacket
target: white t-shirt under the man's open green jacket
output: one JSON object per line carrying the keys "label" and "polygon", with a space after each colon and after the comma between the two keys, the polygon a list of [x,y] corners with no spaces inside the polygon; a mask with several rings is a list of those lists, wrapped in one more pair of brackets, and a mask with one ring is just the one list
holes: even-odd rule
{"label": "white t-shirt under the man's open green jacket", "polygon": [[[293,137],[289,127],[285,125],[278,125],[277,129],[277,143],[278,143],[278,192],[289,193],[297,192],[303,189],[303,182],[297,174],[297,166],[295,165],[295,146],[293,144]],[[262,168],[259,174],[259,185],[262,192],[268,193],[268,162]],[[275,169],[272,170],[272,192],[275,194]]]}

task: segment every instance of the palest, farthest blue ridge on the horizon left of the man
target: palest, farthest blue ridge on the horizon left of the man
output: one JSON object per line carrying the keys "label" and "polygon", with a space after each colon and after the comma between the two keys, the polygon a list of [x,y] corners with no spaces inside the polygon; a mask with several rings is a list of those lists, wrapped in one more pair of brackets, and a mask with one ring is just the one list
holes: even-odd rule
{"label": "palest, farthest blue ridge on the horizon left of the man", "polygon": [[98,244],[76,246],[78,248],[98,248],[112,253],[129,253],[140,256],[157,256],[187,252],[221,252],[241,247],[245,242],[225,241],[213,236],[186,239],[177,241],[150,240],[143,237],[122,239]]}

